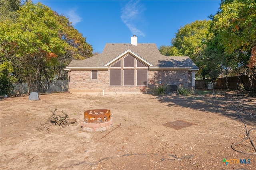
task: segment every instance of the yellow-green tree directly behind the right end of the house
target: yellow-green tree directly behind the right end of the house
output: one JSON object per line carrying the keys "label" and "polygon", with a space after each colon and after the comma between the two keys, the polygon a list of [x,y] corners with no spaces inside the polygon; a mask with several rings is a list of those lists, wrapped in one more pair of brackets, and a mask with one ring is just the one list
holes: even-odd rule
{"label": "yellow-green tree directly behind the right end of the house", "polygon": [[[184,27],[180,27],[172,39],[172,48],[178,49],[179,55],[188,56],[199,67],[197,77],[205,78],[205,76],[211,76],[215,74],[209,74],[205,72],[206,56],[204,55],[204,49],[206,44],[210,41],[214,35],[209,31],[211,20],[194,21],[186,24]],[[208,68],[209,70],[210,68]]]}

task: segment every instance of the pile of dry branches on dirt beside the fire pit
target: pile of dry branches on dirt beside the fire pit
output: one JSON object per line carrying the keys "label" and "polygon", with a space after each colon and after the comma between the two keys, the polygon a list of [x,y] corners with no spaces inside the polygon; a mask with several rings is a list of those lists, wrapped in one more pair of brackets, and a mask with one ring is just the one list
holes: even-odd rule
{"label": "pile of dry branches on dirt beside the fire pit", "polygon": [[57,110],[58,109],[54,109],[54,111],[50,110],[52,112],[52,115],[48,119],[42,119],[42,121],[40,122],[40,127],[38,127],[38,130],[45,129],[49,131],[48,127],[52,125],[59,125],[65,128],[70,124],[77,123],[76,119],[69,119],[68,114],[66,114],[63,110],[62,110],[62,115],[56,114]]}

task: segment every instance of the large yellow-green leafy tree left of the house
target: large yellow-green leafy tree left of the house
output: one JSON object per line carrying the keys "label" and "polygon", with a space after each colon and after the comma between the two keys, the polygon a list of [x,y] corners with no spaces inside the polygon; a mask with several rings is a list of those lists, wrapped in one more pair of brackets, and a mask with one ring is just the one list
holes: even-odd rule
{"label": "large yellow-green leafy tree left of the house", "polygon": [[0,35],[1,59],[10,62],[12,75],[30,87],[66,78],[63,68],[71,60],[92,56],[91,45],[68,19],[41,3],[25,2],[16,20],[1,21]]}

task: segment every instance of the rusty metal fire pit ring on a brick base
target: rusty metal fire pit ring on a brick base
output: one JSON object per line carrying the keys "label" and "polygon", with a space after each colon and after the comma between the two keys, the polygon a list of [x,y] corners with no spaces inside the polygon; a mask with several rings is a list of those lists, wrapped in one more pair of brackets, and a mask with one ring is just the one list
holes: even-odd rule
{"label": "rusty metal fire pit ring on a brick base", "polygon": [[84,112],[84,121],[81,122],[83,130],[96,132],[110,129],[112,118],[108,109],[86,110]]}

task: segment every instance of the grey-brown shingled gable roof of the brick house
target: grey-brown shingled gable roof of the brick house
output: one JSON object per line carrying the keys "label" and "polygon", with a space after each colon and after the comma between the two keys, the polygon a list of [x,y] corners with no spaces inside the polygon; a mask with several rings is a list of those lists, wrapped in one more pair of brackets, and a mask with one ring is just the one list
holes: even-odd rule
{"label": "grey-brown shingled gable roof of the brick house", "polygon": [[189,57],[171,57],[161,55],[155,43],[106,43],[101,54],[82,61],[73,60],[66,69],[108,69],[108,66],[126,54],[132,54],[136,59],[152,69],[192,69],[198,70]]}

